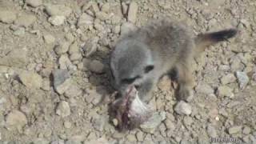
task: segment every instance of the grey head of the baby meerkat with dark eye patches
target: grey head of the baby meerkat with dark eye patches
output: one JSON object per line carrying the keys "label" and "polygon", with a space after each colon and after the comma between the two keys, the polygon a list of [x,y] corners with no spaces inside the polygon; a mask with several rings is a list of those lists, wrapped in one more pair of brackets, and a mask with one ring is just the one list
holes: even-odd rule
{"label": "grey head of the baby meerkat with dark eye patches", "polygon": [[139,89],[140,84],[154,70],[154,62],[148,47],[135,40],[118,43],[111,55],[111,72],[114,86],[120,94],[125,94],[130,86]]}

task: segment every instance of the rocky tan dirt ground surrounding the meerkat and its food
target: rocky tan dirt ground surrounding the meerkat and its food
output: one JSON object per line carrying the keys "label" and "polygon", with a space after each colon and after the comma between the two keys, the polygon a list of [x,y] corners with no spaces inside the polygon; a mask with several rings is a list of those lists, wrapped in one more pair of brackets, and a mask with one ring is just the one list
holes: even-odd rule
{"label": "rocky tan dirt ground surrounding the meerkat and its food", "polygon": [[[182,110],[164,77],[150,101],[162,120],[120,133],[108,114],[110,51],[162,16],[194,34],[239,34],[196,58]],[[0,143],[256,143],[254,0],[0,0],[0,44]]]}

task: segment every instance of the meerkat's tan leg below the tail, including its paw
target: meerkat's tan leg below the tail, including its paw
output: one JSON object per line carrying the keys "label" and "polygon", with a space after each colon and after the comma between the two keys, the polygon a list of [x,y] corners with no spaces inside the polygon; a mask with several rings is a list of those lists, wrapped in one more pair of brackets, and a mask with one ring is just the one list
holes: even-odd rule
{"label": "meerkat's tan leg below the tail, including its paw", "polygon": [[191,101],[193,94],[193,76],[190,62],[182,62],[178,63],[175,67],[178,73],[178,90],[176,94],[178,94],[179,100],[185,100],[187,102]]}

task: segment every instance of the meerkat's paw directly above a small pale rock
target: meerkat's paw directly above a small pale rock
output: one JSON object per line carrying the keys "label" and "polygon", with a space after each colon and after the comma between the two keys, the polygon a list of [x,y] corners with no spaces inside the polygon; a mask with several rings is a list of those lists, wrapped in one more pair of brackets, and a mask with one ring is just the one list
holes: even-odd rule
{"label": "meerkat's paw directly above a small pale rock", "polygon": [[192,101],[194,92],[190,86],[178,86],[178,99],[186,102]]}

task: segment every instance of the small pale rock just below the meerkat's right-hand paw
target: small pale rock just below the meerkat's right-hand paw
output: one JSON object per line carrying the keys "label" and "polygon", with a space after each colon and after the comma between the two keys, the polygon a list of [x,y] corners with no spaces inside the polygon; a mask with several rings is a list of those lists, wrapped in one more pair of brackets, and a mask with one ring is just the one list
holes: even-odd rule
{"label": "small pale rock just below the meerkat's right-hand paw", "polygon": [[178,104],[174,107],[174,111],[178,114],[186,114],[190,115],[192,113],[192,107],[190,104],[180,101]]}

